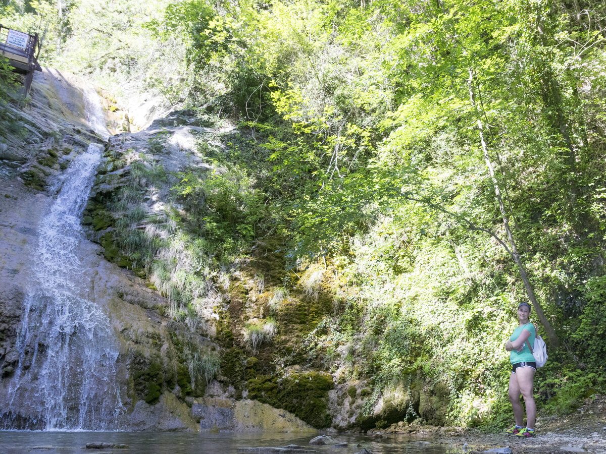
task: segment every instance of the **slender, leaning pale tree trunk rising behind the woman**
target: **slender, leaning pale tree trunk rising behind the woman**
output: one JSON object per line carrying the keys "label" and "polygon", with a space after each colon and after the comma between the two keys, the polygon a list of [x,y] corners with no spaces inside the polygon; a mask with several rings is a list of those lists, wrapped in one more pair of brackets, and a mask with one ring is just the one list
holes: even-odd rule
{"label": "slender, leaning pale tree trunk rising behind the woman", "polygon": [[471,100],[471,105],[473,106],[474,110],[476,111],[476,118],[478,119],[478,131],[479,131],[479,135],[480,135],[480,142],[482,143],[482,152],[484,153],[484,161],[486,162],[486,166],[488,167],[488,172],[490,173],[490,178],[492,179],[492,182],[493,182],[494,193],[496,194],[496,199],[499,202],[499,209],[501,210],[503,224],[505,226],[505,232],[507,232],[507,239],[509,240],[509,244],[511,246],[511,251],[510,251],[511,257],[513,257],[513,261],[516,263],[516,266],[518,266],[520,275],[522,277],[522,282],[524,283],[524,288],[526,290],[526,294],[528,295],[528,299],[532,303],[534,311],[536,312],[537,317],[539,317],[541,324],[545,327],[545,331],[547,332],[547,337],[550,340],[551,346],[557,348],[559,346],[559,340],[558,340],[558,337],[556,336],[556,332],[554,331],[553,327],[551,326],[551,323],[549,323],[549,320],[547,320],[547,317],[545,317],[543,309],[541,308],[541,304],[539,304],[539,301],[536,300],[536,296],[534,295],[533,286],[531,285],[530,280],[528,280],[526,268],[524,267],[524,263],[522,263],[522,259],[520,257],[520,254],[518,253],[518,248],[516,246],[516,242],[514,241],[513,235],[511,234],[511,229],[509,226],[509,219],[507,217],[507,212],[505,211],[505,205],[504,205],[503,199],[501,197],[501,189],[499,188],[499,182],[497,181],[496,177],[494,176],[494,167],[492,165],[492,162],[490,161],[490,156],[488,156],[488,146],[486,145],[486,142],[484,140],[484,127],[482,126],[481,116],[478,111],[478,105],[476,105],[475,97],[474,97],[474,93],[473,93],[473,70],[471,68],[469,70],[469,97]]}

